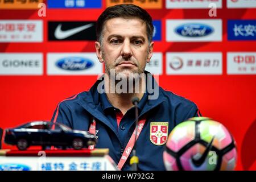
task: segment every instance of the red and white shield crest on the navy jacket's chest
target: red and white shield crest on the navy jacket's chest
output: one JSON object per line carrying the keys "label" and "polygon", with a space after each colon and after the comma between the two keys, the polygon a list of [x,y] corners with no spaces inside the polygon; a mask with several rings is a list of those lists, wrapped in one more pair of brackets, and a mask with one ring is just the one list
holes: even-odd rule
{"label": "red and white shield crest on the navy jacket's chest", "polygon": [[150,122],[150,141],[157,146],[166,143],[168,137],[168,122]]}

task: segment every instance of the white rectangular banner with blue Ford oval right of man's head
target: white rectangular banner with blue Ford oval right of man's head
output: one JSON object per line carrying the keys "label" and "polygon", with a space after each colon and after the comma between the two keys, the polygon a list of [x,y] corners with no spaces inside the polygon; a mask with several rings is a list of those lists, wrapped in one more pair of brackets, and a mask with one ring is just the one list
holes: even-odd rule
{"label": "white rectangular banner with blue Ford oval right of man's head", "polygon": [[167,42],[221,42],[221,19],[168,19]]}

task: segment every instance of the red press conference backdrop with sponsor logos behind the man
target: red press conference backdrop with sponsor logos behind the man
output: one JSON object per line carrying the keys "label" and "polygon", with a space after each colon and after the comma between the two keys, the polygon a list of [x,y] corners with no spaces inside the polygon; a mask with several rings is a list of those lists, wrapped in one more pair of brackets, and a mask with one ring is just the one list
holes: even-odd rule
{"label": "red press conference backdrop with sponsor logos behind the man", "polygon": [[255,170],[255,0],[0,1],[0,126],[49,120],[61,100],[93,85],[104,72],[94,49],[95,22],[122,2],[154,19],[146,69],[159,73],[164,89],[228,127],[237,141],[236,169]]}

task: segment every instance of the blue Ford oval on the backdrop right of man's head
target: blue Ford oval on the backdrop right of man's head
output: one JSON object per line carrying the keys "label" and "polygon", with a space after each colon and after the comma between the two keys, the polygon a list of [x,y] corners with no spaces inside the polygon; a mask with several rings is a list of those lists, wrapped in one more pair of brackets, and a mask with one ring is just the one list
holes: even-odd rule
{"label": "blue Ford oval on the backdrop right of man's head", "polygon": [[175,32],[181,36],[195,38],[210,35],[212,34],[213,30],[214,29],[212,27],[206,24],[188,23],[177,27]]}

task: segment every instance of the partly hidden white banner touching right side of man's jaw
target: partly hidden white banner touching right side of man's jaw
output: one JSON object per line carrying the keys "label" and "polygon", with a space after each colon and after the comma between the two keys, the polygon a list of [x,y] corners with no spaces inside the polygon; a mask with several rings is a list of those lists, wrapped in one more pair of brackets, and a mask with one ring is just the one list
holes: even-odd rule
{"label": "partly hidden white banner touching right side of man's jaw", "polygon": [[163,54],[162,52],[153,52],[150,62],[146,64],[146,71],[152,74],[163,74]]}

